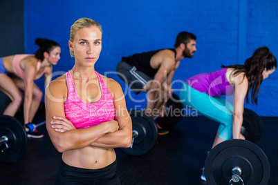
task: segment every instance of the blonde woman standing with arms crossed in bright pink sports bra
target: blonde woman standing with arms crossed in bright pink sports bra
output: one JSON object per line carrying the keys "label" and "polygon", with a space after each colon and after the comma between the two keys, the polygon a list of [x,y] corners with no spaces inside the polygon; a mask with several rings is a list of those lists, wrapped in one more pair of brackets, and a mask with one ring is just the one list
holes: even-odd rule
{"label": "blonde woman standing with arms crossed in bright pink sports bra", "polygon": [[102,28],[88,18],[71,26],[73,68],[46,87],[46,128],[62,162],[55,184],[120,184],[114,148],[129,147],[131,118],[118,82],[95,71]]}

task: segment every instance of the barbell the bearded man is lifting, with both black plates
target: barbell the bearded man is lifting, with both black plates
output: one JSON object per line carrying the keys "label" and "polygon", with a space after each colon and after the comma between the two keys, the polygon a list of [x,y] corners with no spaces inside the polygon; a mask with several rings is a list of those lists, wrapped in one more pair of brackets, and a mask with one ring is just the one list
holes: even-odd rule
{"label": "barbell the bearded man is lifting, with both black plates", "polygon": [[129,110],[132,121],[132,142],[129,148],[120,148],[124,153],[133,156],[148,153],[156,144],[158,128],[156,122],[169,128],[174,126],[183,117],[183,104],[178,95],[172,94],[165,108],[164,117],[152,118],[142,110]]}

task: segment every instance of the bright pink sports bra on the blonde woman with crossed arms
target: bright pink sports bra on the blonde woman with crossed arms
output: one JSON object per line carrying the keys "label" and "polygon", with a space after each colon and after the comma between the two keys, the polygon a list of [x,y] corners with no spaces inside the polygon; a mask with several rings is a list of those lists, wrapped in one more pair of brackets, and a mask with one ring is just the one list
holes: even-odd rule
{"label": "bright pink sports bra on the blonde woman with crossed arms", "polygon": [[102,97],[95,103],[86,103],[78,97],[71,71],[66,72],[66,84],[68,86],[68,97],[64,103],[66,119],[71,121],[75,128],[88,128],[109,121],[115,117],[115,108],[109,89],[104,84],[100,74],[100,88]]}

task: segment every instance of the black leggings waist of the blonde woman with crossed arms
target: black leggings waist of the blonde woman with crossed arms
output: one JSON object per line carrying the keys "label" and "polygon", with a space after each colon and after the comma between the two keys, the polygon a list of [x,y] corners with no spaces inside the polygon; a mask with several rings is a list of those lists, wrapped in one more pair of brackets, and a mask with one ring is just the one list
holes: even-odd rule
{"label": "black leggings waist of the blonde woman with crossed arms", "polygon": [[120,185],[117,161],[104,168],[90,170],[60,164],[55,184],[102,184]]}

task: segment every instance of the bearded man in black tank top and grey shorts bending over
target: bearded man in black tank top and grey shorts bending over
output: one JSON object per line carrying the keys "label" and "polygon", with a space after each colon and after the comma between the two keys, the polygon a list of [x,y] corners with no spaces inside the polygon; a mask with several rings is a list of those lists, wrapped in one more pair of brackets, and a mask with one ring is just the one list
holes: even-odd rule
{"label": "bearded man in black tank top and grey shorts bending over", "polygon": [[[174,72],[180,60],[192,58],[195,51],[196,36],[190,32],[180,32],[174,48],[122,57],[117,66],[118,76],[134,93],[148,93],[147,114],[153,118],[163,117],[167,100],[173,92],[171,84]],[[169,133],[168,130],[158,130],[160,135]]]}

